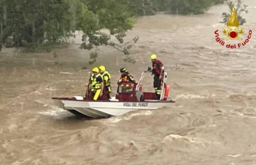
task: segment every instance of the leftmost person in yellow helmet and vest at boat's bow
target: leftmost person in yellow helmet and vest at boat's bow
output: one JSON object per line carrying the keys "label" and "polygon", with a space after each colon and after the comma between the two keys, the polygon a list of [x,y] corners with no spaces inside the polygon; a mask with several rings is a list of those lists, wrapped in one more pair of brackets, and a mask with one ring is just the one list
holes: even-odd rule
{"label": "leftmost person in yellow helmet and vest at boat's bow", "polygon": [[94,93],[93,100],[98,100],[98,97],[103,95],[104,82],[98,67],[92,69],[92,75],[89,79],[89,89]]}

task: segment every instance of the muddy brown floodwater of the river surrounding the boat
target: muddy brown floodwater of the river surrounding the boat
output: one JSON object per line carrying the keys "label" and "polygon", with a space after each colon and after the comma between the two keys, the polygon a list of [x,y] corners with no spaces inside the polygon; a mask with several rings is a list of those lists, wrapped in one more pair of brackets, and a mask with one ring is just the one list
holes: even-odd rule
{"label": "muddy brown floodwater of the river surrounding the boat", "polygon": [[[170,84],[170,107],[141,110],[108,119],[79,119],[56,107],[51,97],[83,95],[90,70],[89,52],[73,44],[51,53],[0,54],[0,164],[256,164],[256,1],[247,0],[243,25],[253,31],[241,49],[215,41],[225,5],[198,16],[156,15],[138,18],[128,38],[136,64],[101,47],[113,88],[118,69],[136,79],[156,52]],[[223,37],[223,35],[222,35]],[[246,38],[243,35],[243,38]],[[227,41],[235,43],[237,41]],[[152,77],[143,88],[153,91]]]}

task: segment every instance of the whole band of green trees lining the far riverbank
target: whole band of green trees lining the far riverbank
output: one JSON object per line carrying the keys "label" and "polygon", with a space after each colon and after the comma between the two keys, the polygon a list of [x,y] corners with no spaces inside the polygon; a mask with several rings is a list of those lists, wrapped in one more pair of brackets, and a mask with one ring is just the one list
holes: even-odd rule
{"label": "whole band of green trees lining the far riverbank", "polygon": [[[223,0],[0,0],[0,50],[26,47],[37,51],[83,31],[82,49],[95,48],[90,54],[93,63],[97,47],[112,46],[129,58],[138,37],[125,42],[126,31],[135,24],[134,16],[170,14],[201,14]],[[108,29],[103,33],[100,29]],[[113,42],[115,39],[116,41]]]}

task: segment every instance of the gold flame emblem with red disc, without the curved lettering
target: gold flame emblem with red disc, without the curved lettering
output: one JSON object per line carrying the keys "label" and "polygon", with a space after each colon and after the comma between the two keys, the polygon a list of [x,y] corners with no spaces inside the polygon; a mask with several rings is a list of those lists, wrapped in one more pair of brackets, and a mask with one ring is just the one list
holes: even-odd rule
{"label": "gold flame emblem with red disc, without the curved lettering", "polygon": [[227,22],[227,27],[229,27],[230,30],[228,30],[227,28],[223,28],[222,31],[223,34],[227,35],[227,37],[224,38],[224,41],[226,41],[227,39],[239,39],[240,41],[242,41],[242,38],[240,38],[238,35],[242,35],[244,33],[244,28],[240,28],[238,29],[238,31],[236,31],[236,29],[239,27],[239,22],[234,7],[231,11],[230,18]]}

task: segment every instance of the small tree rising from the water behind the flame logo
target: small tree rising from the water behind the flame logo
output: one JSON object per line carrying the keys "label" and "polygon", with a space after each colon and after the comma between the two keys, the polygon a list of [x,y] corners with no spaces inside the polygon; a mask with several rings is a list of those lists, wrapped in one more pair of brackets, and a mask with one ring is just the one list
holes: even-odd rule
{"label": "small tree rising from the water behind the flame logo", "polygon": [[233,7],[235,7],[237,19],[239,21],[239,25],[243,25],[246,22],[246,20],[245,20],[245,18],[242,17],[242,13],[248,13],[248,10],[246,10],[248,5],[243,4],[242,0],[237,0],[236,4],[234,4],[233,1],[226,0],[226,3],[229,7],[230,12],[229,13],[226,13],[226,12],[222,13],[223,21],[221,21],[221,23],[227,23],[228,22],[229,17],[230,17],[230,13],[231,13]]}

